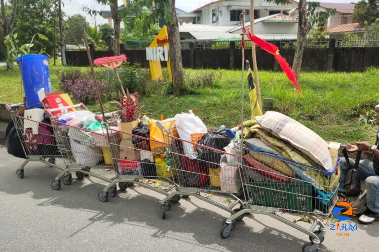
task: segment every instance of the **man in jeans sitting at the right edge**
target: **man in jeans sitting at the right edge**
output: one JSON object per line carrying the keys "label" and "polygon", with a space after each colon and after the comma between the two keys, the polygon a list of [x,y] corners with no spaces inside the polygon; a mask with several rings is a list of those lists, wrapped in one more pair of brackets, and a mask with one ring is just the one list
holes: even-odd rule
{"label": "man in jeans sitting at the right edge", "polygon": [[[379,125],[379,102],[375,107],[375,123]],[[356,145],[347,144],[348,152],[362,151],[372,157],[372,160],[360,160],[358,174],[361,179],[365,180],[367,189],[367,211],[359,217],[359,222],[363,224],[371,224],[379,221],[379,131],[377,134],[376,145],[368,142],[358,142]],[[350,162],[354,163],[354,159],[350,158]],[[351,166],[344,160],[341,163],[340,187],[339,191],[344,192],[344,182],[346,172]]]}

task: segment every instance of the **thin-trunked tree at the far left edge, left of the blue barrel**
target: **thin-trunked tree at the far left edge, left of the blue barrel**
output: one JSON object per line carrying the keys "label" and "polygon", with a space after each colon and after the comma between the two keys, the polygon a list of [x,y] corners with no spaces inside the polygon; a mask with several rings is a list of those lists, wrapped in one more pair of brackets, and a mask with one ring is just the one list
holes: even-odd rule
{"label": "thin-trunked tree at the far left edge, left of the blue barrel", "polygon": [[11,12],[11,17],[8,19],[6,16],[4,0],[0,0],[0,8],[1,8],[0,24],[2,27],[1,45],[2,45],[2,48],[4,51],[4,55],[5,55],[6,69],[11,69],[11,68],[13,68],[13,66],[11,63],[9,63],[8,47],[5,45],[5,42],[4,42],[5,40],[3,40],[3,38],[9,35],[10,27],[13,27],[13,24],[16,20],[17,3],[18,3],[17,0],[10,1],[11,7],[12,7],[12,12]]}

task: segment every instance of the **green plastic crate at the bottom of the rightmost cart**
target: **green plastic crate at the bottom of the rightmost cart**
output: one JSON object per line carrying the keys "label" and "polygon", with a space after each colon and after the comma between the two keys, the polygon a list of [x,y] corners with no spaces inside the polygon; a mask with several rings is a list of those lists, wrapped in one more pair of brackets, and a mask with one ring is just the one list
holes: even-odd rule
{"label": "green plastic crate at the bottom of the rightmost cart", "polygon": [[309,183],[248,182],[257,206],[287,211],[312,212],[312,186]]}

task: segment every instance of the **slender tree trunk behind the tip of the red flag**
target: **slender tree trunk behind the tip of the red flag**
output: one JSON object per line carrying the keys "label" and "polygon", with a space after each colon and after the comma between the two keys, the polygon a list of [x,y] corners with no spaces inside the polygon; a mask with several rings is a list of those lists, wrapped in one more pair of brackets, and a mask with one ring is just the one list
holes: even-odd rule
{"label": "slender tree trunk behind the tip of the red flag", "polygon": [[294,70],[299,77],[300,69],[302,67],[304,45],[306,41],[306,35],[309,32],[309,22],[306,17],[306,0],[300,0],[299,6],[299,26],[298,26],[298,41],[296,43],[294,63],[292,70]]}

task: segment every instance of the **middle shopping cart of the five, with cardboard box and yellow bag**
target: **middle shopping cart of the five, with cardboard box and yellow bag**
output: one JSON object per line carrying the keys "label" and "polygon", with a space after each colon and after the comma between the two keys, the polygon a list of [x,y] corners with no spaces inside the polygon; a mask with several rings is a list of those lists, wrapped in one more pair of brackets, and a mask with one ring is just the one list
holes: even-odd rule
{"label": "middle shopping cart of the five, with cardboard box and yellow bag", "polygon": [[[174,188],[171,172],[167,170],[164,155],[155,151],[159,148],[151,148],[151,146],[164,147],[164,143],[120,131],[115,125],[108,127],[108,133],[109,158],[114,165],[115,177],[103,191],[99,192],[99,199],[107,201],[109,189],[115,187],[116,183],[121,190],[136,184],[168,195],[168,192]],[[179,200],[180,197],[173,199],[174,202]]]}

